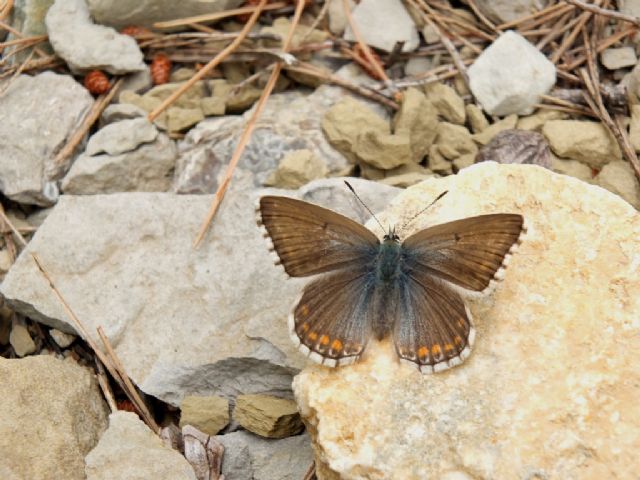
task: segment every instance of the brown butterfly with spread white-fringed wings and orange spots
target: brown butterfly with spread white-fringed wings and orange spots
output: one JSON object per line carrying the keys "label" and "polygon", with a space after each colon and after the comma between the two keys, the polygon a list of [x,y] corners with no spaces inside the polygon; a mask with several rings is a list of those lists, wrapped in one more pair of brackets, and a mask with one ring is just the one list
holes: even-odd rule
{"label": "brown butterfly with spread white-fringed wings and orange spots", "polygon": [[524,218],[498,213],[382,241],[363,225],[301,200],[264,196],[258,223],[291,277],[314,276],[289,316],[312,360],[347,365],[371,338],[391,336],[402,362],[434,373],[461,364],[475,338],[456,287],[482,292],[501,279]]}

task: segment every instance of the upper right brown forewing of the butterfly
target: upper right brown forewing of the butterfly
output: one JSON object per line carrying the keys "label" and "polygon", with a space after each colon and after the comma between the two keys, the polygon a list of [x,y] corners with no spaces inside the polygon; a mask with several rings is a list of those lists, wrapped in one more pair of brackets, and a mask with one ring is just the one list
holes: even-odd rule
{"label": "upper right brown forewing of the butterfly", "polygon": [[415,270],[482,291],[497,278],[523,230],[522,215],[480,215],[426,228],[402,246]]}

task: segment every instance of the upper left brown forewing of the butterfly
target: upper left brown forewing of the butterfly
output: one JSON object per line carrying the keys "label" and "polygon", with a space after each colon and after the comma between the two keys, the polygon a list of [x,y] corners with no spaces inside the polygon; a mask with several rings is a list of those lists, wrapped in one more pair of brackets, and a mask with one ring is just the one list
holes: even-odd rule
{"label": "upper left brown forewing of the butterfly", "polygon": [[380,243],[350,218],[294,198],[262,197],[260,219],[292,277],[358,267]]}

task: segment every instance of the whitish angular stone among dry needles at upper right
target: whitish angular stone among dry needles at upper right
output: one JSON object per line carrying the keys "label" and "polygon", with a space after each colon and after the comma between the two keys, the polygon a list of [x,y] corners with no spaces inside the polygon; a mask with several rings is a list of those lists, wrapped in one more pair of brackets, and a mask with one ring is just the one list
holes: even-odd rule
{"label": "whitish angular stone among dry needles at upper right", "polygon": [[556,67],[514,31],[500,35],[469,67],[469,87],[490,115],[528,115],[556,82]]}

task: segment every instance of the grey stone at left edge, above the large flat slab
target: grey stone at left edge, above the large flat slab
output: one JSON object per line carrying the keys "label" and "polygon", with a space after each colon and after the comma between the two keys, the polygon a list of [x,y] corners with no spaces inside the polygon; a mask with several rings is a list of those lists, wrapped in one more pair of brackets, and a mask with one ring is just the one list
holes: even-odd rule
{"label": "grey stone at left edge, above the large flat slab", "polygon": [[58,187],[44,172],[92,103],[68,75],[17,77],[0,96],[0,191],[20,203],[54,203]]}

